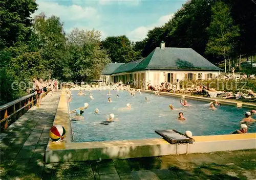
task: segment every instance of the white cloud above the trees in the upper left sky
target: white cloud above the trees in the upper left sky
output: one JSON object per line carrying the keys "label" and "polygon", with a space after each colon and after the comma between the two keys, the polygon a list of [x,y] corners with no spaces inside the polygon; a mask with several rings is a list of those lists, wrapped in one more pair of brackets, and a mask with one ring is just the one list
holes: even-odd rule
{"label": "white cloud above the trees in the upper left sky", "polygon": [[82,7],[78,5],[63,6],[47,1],[36,1],[36,3],[38,4],[38,10],[33,15],[45,12],[47,16],[55,15],[60,17],[61,21],[100,20],[100,15],[97,10],[92,7]]}

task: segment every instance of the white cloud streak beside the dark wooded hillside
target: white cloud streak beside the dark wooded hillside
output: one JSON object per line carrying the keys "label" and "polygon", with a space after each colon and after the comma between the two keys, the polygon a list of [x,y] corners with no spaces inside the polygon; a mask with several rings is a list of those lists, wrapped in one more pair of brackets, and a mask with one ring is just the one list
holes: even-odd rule
{"label": "white cloud streak beside the dark wooded hillside", "polygon": [[168,14],[165,16],[161,16],[158,21],[154,24],[148,25],[146,27],[138,27],[135,30],[127,33],[127,37],[129,37],[130,40],[132,41],[141,41],[144,39],[147,35],[147,32],[149,30],[154,29],[155,27],[160,27],[164,25],[169,19],[172,19],[174,14]]}

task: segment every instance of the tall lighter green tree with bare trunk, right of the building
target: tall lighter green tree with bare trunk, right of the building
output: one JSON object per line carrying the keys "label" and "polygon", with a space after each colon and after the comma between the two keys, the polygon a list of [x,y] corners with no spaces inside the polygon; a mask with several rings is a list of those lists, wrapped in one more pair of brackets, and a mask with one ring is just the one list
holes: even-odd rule
{"label": "tall lighter green tree with bare trunk, right of the building", "polygon": [[233,25],[229,7],[223,2],[216,2],[212,6],[212,20],[207,28],[209,41],[206,53],[223,56],[226,73],[226,57],[230,56],[236,47],[234,40],[239,37],[238,25]]}

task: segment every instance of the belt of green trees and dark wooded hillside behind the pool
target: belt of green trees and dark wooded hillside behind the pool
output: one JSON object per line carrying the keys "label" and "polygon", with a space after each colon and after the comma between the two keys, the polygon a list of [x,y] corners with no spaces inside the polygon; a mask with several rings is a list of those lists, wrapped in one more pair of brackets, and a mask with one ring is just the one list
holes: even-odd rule
{"label": "belt of green trees and dark wooded hillside behind the pool", "polygon": [[32,19],[36,10],[34,0],[0,1],[1,105],[25,95],[25,84],[33,76],[73,82],[98,79],[105,64],[146,57],[162,40],[166,47],[193,48],[214,64],[226,62],[226,71],[230,66],[241,70],[241,60],[252,63],[256,55],[256,4],[251,0],[187,1],[172,19],[138,42],[125,35],[101,41],[96,30],[66,34],[59,17],[42,13]]}

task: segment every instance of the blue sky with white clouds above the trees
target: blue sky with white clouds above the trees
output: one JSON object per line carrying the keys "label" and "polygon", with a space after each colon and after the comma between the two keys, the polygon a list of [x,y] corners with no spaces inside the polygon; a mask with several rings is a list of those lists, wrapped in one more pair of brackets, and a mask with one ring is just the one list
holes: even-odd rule
{"label": "blue sky with white clouds above the trees", "polygon": [[167,22],[186,0],[36,0],[38,10],[60,17],[67,33],[74,28],[101,31],[102,39],[126,35],[132,41]]}

